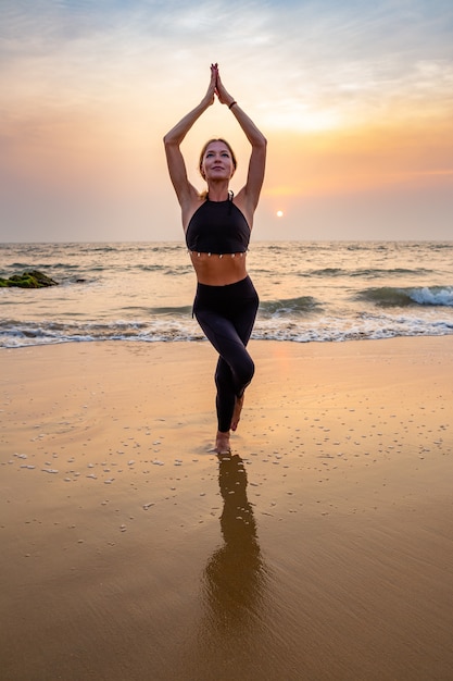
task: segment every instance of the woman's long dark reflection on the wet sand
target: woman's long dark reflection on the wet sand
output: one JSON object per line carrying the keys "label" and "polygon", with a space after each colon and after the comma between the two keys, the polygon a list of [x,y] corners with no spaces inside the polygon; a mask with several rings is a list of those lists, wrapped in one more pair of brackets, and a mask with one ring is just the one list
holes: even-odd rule
{"label": "woman's long dark reflection on the wet sand", "polygon": [[202,572],[201,617],[196,641],[186,646],[181,673],[187,681],[265,679],[265,653],[274,637],[268,619],[270,575],[247,498],[243,461],[238,455],[219,456],[218,461],[223,542]]}

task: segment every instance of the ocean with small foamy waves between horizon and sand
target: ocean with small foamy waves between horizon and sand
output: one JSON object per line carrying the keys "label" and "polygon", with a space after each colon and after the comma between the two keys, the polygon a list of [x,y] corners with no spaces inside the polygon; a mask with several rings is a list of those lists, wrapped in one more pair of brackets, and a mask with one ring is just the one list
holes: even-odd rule
{"label": "ocean with small foamy waves between horizon and sand", "polygon": [[[183,243],[0,245],[0,276],[29,269],[60,285],[0,288],[0,347],[203,338]],[[256,242],[248,271],[255,339],[453,334],[453,242]]]}

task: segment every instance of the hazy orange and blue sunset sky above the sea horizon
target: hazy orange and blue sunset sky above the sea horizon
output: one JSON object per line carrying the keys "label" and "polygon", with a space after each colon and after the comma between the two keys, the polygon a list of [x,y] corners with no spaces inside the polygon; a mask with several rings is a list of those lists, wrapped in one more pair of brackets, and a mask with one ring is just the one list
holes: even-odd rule
{"label": "hazy orange and blue sunset sky above the sea horizon", "polygon": [[[268,139],[255,239],[453,238],[451,0],[0,0],[0,242],[181,238],[211,62]],[[218,102],[190,179],[213,135],[238,190]]]}

